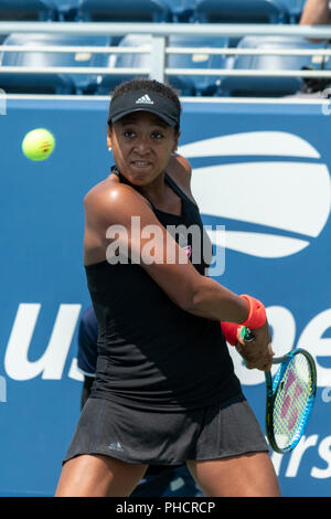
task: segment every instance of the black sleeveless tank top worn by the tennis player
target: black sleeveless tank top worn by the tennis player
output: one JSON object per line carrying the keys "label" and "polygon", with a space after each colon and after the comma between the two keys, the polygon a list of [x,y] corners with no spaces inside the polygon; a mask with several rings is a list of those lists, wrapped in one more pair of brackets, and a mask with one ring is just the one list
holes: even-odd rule
{"label": "black sleeveless tank top worn by the tennis player", "polygon": [[[196,204],[169,174],[164,180],[181,198],[182,213],[167,213],[150,202],[159,222],[166,227],[196,224],[203,236]],[[190,234],[186,244],[174,237],[193,257],[196,243]],[[201,256],[192,263],[204,274],[207,264]],[[220,322],[182,310],[138,264],[105,261],[85,269],[99,330],[92,396],[137,409],[180,411],[241,393]]]}

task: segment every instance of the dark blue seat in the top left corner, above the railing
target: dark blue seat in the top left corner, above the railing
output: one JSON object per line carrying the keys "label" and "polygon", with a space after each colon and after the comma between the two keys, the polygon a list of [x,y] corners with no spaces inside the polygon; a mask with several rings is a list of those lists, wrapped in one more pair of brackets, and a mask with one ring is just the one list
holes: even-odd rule
{"label": "dark blue seat in the top left corner, above the railing", "polygon": [[55,20],[53,0],[1,0],[0,21],[47,21]]}

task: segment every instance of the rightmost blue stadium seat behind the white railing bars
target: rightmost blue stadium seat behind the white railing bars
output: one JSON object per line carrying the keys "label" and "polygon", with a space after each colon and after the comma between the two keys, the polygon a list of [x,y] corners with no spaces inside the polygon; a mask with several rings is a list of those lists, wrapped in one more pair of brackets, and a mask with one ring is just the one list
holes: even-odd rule
{"label": "rightmost blue stadium seat behind the white railing bars", "polygon": [[[324,44],[310,43],[301,38],[290,36],[245,36],[238,44],[238,49],[259,50],[299,50],[323,49]],[[299,71],[302,67],[313,66],[319,68],[320,56],[276,56],[276,55],[237,55],[233,65],[234,70],[252,71]],[[329,65],[330,67],[330,65]],[[300,89],[300,77],[243,77],[228,76],[222,82],[223,95],[231,96],[271,96],[279,97],[292,95]]]}

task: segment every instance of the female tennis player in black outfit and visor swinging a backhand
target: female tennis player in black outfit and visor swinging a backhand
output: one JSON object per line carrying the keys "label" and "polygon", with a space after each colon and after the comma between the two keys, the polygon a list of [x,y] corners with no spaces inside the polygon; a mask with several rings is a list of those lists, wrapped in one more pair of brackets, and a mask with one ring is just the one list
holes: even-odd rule
{"label": "female tennis player in black outfit and visor swinging a backhand", "polygon": [[190,165],[173,155],[180,115],[174,91],[154,81],[124,83],[111,97],[113,176],[85,198],[97,371],[56,496],[129,496],[149,465],[184,463],[205,496],[279,495],[225,341],[253,329],[237,348],[249,368],[268,370],[265,308],[206,275]]}

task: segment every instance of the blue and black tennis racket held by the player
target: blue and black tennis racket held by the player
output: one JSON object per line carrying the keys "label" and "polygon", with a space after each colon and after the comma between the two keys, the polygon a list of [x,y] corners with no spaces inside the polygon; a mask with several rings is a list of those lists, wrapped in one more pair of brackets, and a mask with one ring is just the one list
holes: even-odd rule
{"label": "blue and black tennis racket held by the player", "polygon": [[[243,327],[241,335],[246,342],[253,332]],[[273,364],[280,364],[273,380],[266,377],[266,434],[270,446],[280,454],[289,453],[299,443],[308,423],[317,390],[317,370],[311,354],[302,348],[293,348],[282,357],[274,357]]]}

